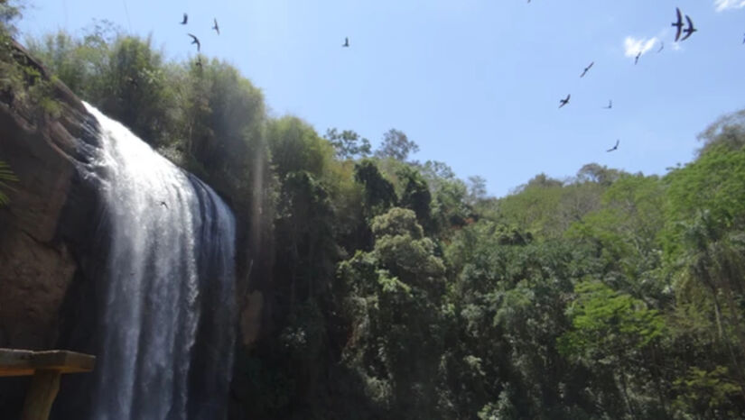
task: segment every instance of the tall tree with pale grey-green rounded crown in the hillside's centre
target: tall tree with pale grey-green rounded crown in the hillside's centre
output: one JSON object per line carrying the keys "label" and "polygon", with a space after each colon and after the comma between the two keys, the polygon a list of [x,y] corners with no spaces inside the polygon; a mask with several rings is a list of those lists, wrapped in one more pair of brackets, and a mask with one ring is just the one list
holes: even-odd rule
{"label": "tall tree with pale grey-green rounded crown in the hillside's centre", "polygon": [[373,251],[339,266],[352,319],[344,360],[380,390],[386,418],[435,418],[444,265],[413,211],[394,207],[371,228]]}

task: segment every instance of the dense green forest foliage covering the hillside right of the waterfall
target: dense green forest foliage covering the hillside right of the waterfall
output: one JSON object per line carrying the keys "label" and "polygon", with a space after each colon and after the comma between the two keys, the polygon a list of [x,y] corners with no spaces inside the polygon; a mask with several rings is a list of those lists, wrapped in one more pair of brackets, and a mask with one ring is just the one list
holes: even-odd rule
{"label": "dense green forest foliage covering the hillside right of the waterfall", "polygon": [[166,62],[102,26],[31,44],[233,205],[242,293],[265,302],[237,417],[745,416],[742,113],[664,177],[590,164],[496,199],[409,161],[403,132],[372,152],[269,117],[224,62]]}

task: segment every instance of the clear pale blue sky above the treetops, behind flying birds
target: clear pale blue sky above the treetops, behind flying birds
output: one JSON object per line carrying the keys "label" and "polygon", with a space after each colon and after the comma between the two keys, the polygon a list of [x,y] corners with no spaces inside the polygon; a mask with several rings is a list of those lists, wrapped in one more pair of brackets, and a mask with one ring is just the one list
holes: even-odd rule
{"label": "clear pale blue sky above the treetops, behind flying birds", "polygon": [[[354,130],[374,147],[396,128],[419,145],[414,160],[486,178],[494,196],[591,162],[665,174],[694,159],[710,123],[745,108],[745,0],[25,3],[22,41],[108,20],[188,59],[192,32],[203,54],[263,91],[272,115],[294,114],[321,134]],[[677,43],[675,7],[698,29]]]}

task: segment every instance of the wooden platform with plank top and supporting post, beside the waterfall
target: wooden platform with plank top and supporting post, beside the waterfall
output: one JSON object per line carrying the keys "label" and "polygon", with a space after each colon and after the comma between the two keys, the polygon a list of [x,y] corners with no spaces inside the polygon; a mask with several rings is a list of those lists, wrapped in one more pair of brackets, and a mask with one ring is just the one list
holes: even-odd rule
{"label": "wooden platform with plank top and supporting post, beside the waterfall", "polygon": [[78,352],[0,349],[0,377],[32,376],[23,401],[23,420],[46,420],[63,373],[89,372],[96,357]]}

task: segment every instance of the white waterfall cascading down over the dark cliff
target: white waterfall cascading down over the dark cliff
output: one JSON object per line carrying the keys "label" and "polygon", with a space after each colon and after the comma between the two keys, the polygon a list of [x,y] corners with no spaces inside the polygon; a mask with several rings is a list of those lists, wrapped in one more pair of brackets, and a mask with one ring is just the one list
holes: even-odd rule
{"label": "white waterfall cascading down over the dark cliff", "polygon": [[85,104],[100,125],[107,272],[90,418],[227,414],[235,221],[198,178]]}

